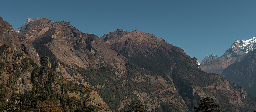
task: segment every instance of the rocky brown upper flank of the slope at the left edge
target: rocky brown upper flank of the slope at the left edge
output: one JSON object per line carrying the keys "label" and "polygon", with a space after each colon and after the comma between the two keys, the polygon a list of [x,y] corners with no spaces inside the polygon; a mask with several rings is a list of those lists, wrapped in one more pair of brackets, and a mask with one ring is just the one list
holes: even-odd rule
{"label": "rocky brown upper flank of the slope at the left edge", "polygon": [[12,25],[0,17],[0,44],[6,44],[12,49],[24,53],[40,65],[40,58],[33,45],[22,35],[17,35]]}

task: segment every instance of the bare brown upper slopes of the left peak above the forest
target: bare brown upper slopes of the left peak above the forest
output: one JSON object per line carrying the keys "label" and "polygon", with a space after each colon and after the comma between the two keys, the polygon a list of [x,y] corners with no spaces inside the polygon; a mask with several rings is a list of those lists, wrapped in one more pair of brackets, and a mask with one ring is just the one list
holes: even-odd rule
{"label": "bare brown upper slopes of the left peak above the forest", "polygon": [[[39,55],[48,55],[51,63],[56,57],[68,65],[88,68],[90,64],[94,67],[103,64],[118,69],[116,74],[125,72],[122,55],[96,35],[82,33],[65,21],[56,22],[46,18],[31,21],[27,29],[21,29],[19,34],[31,37],[30,41],[38,49]],[[45,49],[48,51],[43,51]]]}

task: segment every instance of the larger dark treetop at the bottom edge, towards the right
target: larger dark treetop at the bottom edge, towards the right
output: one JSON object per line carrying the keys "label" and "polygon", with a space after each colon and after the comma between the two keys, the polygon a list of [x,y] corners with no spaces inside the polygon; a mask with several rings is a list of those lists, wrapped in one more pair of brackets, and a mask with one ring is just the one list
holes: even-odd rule
{"label": "larger dark treetop at the bottom edge, towards the right", "polygon": [[194,107],[195,112],[220,112],[220,106],[217,105],[214,100],[210,97],[205,97],[200,100],[198,107]]}

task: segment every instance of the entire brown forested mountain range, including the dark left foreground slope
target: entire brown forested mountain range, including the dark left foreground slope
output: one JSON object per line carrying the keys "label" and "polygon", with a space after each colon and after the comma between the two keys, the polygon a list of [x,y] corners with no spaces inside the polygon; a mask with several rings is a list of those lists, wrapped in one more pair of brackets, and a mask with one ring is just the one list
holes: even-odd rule
{"label": "entire brown forested mountain range, including the dark left foreground slope", "polygon": [[[29,18],[17,33],[0,18],[0,28],[1,94],[9,93],[0,110],[127,111],[140,100],[149,111],[187,112],[210,96],[222,111],[255,111],[255,96],[150,33],[117,29],[99,38],[46,18]],[[26,72],[10,72],[16,66]]]}

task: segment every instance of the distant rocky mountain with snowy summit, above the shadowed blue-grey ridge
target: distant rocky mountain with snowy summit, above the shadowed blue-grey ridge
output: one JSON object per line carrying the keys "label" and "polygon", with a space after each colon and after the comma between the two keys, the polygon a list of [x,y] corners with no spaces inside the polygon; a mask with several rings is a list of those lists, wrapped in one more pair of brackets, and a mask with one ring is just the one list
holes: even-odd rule
{"label": "distant rocky mountain with snowy summit, above the shadowed blue-grey ridge", "polygon": [[256,49],[256,37],[249,40],[237,40],[226,52],[218,57],[215,55],[206,56],[200,64],[200,68],[209,73],[221,74],[222,71],[229,65],[240,62],[247,53]]}

